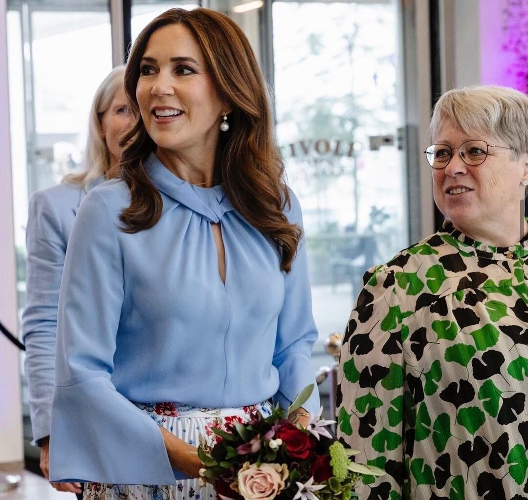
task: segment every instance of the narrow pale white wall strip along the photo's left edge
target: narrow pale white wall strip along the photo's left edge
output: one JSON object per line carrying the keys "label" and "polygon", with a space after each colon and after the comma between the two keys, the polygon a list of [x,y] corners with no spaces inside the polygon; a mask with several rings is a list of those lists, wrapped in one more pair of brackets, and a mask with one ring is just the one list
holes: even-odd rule
{"label": "narrow pale white wall strip along the photo's left edge", "polygon": [[[15,244],[7,93],[7,0],[0,0],[0,321],[17,332]],[[22,405],[18,349],[0,335],[0,465],[22,461]]]}

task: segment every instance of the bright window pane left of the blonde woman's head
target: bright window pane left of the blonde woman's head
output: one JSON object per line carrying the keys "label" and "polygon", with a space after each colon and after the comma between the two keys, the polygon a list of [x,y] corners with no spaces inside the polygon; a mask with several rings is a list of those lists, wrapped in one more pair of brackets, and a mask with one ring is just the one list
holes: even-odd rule
{"label": "bright window pane left of the blonde woman's head", "polygon": [[32,26],[36,132],[84,131],[91,98],[112,68],[110,15],[34,12]]}

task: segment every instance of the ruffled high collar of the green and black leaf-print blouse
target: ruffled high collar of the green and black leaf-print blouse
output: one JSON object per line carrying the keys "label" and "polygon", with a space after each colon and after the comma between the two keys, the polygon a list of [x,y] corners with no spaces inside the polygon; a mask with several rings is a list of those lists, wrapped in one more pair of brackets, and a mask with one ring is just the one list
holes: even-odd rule
{"label": "ruffled high collar of the green and black leaf-print blouse", "polygon": [[510,259],[525,259],[528,257],[528,235],[525,235],[520,242],[510,246],[493,246],[480,243],[465,235],[452,225],[450,220],[446,220],[441,233],[451,236],[450,243],[466,253],[477,255],[478,257],[493,259],[496,261],[507,261]]}

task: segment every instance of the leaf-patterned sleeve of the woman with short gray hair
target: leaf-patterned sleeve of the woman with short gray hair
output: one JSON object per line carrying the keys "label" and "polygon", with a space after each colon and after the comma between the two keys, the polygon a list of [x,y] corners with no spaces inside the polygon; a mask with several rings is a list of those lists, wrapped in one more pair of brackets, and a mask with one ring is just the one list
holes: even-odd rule
{"label": "leaf-patterned sleeve of the woman with short gray hair", "polygon": [[407,411],[412,405],[406,405],[410,393],[404,391],[402,350],[412,312],[400,309],[394,274],[383,267],[365,274],[345,330],[337,374],[337,436],[359,450],[358,463],[386,472],[376,478],[363,476],[356,485],[360,498],[401,498],[404,421],[414,419],[412,410]]}

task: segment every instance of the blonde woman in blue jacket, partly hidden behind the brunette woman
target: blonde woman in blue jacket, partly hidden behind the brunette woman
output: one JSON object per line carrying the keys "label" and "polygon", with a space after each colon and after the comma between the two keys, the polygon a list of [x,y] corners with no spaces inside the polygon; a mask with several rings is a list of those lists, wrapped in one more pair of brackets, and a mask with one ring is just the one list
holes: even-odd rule
{"label": "blonde woman in blue jacket, partly hidden behind the brunette woman", "polygon": [[[100,84],[90,111],[86,169],[61,184],[37,191],[27,219],[27,292],[23,314],[25,372],[30,390],[33,443],[41,448],[40,467],[49,463],[51,400],[54,386],[55,334],[64,256],[73,220],[88,191],[118,175],[118,139],[132,115],[123,88],[124,66]],[[54,483],[59,491],[80,494],[80,483]]]}

